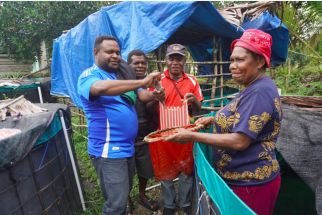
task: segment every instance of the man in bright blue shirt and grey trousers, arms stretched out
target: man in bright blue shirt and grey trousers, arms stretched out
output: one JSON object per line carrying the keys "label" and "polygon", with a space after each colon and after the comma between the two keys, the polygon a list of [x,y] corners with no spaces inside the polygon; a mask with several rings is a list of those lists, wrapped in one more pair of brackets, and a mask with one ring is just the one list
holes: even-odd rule
{"label": "man in bright blue shirt and grey trousers, arms stretched out", "polygon": [[77,86],[88,123],[88,153],[106,200],[103,214],[124,214],[134,175],[136,94],[146,102],[161,99],[164,92],[142,89],[160,79],[158,72],[141,80],[119,80],[130,76],[120,69],[120,47],[114,37],[97,37],[94,56],[95,64],[80,75]]}

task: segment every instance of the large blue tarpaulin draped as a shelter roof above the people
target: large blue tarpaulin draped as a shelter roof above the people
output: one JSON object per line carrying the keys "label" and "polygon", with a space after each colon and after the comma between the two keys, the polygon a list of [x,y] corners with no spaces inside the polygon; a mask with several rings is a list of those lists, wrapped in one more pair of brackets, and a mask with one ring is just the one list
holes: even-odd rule
{"label": "large blue tarpaulin draped as a shelter roof above the people", "polygon": [[89,15],[54,41],[51,93],[69,96],[81,108],[77,79],[94,63],[94,41],[100,35],[115,36],[126,59],[133,49],[149,53],[163,43],[186,45],[197,61],[213,59],[213,38],[222,44],[223,60],[229,60],[229,44],[249,28],[261,29],[273,37],[272,64],[287,57],[288,30],[266,12],[237,28],[228,23],[210,2],[122,2]]}

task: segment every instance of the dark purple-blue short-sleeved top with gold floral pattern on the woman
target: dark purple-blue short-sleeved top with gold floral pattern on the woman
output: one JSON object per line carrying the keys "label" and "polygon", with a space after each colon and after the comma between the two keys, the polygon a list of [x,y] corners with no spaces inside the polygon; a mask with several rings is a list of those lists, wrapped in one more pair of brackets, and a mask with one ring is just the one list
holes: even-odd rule
{"label": "dark purple-blue short-sleeved top with gold floral pattern on the woman", "polygon": [[215,116],[214,133],[243,133],[252,139],[244,151],[214,147],[214,168],[232,185],[257,185],[279,175],[275,144],[281,127],[280,97],[264,76],[236,96]]}

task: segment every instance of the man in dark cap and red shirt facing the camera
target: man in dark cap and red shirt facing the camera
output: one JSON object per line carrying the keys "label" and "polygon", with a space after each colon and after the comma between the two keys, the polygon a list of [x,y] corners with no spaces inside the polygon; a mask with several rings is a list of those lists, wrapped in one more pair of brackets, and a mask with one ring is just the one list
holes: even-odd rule
{"label": "man in dark cap and red shirt facing the camera", "polygon": [[[166,51],[167,70],[161,77],[165,90],[165,106],[182,106],[188,102],[189,112],[199,111],[203,96],[197,79],[184,71],[186,49],[183,45],[172,44]],[[154,168],[155,177],[161,180],[163,214],[174,214],[176,206],[191,214],[193,143],[181,145],[173,142],[156,142],[150,144],[152,155],[163,153],[161,166]],[[155,152],[155,153],[154,153]],[[164,153],[165,152],[165,153]],[[155,167],[155,162],[153,162]],[[156,171],[158,169],[158,171]],[[173,179],[179,177],[178,199]],[[177,205],[176,205],[177,204]]]}

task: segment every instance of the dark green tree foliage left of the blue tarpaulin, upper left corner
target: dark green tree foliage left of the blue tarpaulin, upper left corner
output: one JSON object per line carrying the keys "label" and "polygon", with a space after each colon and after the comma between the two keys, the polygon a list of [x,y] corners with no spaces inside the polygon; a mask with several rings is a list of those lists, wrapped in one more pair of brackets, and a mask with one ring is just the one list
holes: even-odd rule
{"label": "dark green tree foliage left of the blue tarpaulin, upper left corner", "polygon": [[101,6],[117,2],[14,1],[0,6],[2,49],[17,60],[33,60],[45,41],[51,53],[52,41],[77,25]]}

